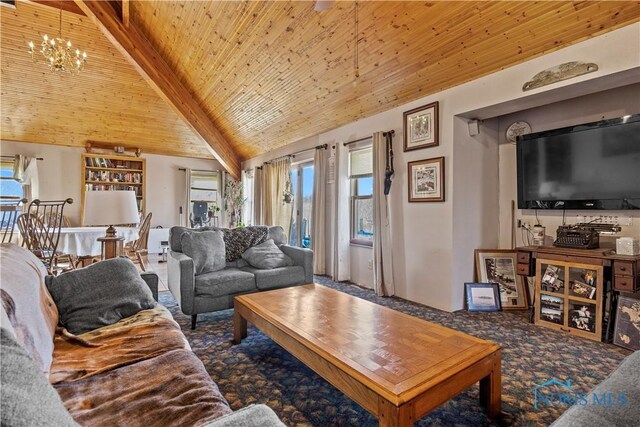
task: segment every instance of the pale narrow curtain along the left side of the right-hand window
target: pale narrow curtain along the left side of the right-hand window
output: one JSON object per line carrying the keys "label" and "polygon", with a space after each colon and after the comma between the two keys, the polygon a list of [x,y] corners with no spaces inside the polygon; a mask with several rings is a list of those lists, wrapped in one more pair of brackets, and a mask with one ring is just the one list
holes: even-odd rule
{"label": "pale narrow curtain along the left side of the right-hand window", "polygon": [[349,180],[349,149],[342,143],[336,143],[335,161],[335,213],[333,242],[332,279],[336,281],[351,279],[351,251],[349,240],[351,181]]}

